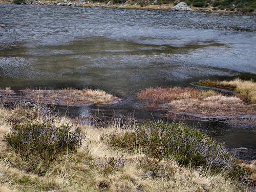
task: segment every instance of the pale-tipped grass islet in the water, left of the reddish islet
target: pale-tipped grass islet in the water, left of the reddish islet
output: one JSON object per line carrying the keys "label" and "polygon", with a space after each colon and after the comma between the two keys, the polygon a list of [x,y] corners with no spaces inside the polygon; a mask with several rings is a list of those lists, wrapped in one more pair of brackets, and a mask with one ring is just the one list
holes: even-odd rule
{"label": "pale-tipped grass islet in the water, left of the reddish islet", "polygon": [[71,88],[62,90],[22,90],[29,100],[33,102],[45,102],[60,105],[83,105],[88,103],[111,103],[117,100],[111,94],[100,90],[74,90]]}

